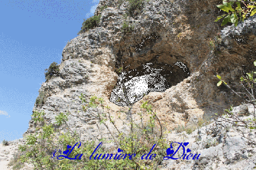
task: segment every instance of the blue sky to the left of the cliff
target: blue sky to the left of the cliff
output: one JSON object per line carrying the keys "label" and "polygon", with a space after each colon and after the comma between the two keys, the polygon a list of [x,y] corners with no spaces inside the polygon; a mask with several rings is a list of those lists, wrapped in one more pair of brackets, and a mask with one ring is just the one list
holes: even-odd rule
{"label": "blue sky to the left of the cliff", "polygon": [[0,142],[23,137],[45,69],[60,63],[98,3],[0,0]]}

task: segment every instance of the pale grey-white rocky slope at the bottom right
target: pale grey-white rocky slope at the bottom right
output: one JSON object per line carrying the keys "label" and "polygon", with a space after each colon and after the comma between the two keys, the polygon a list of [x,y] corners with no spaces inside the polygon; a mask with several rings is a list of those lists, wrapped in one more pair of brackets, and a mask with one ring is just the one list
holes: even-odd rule
{"label": "pale grey-white rocky slope at the bottom right", "polygon": [[[250,105],[233,108],[233,113],[238,115],[243,110],[253,113]],[[241,116],[241,119],[252,118],[253,116]],[[191,134],[172,133],[168,134],[169,141],[189,142],[191,154],[201,154],[199,159],[178,160],[168,159],[162,163],[163,169],[253,169],[256,168],[256,131],[243,127],[232,127],[227,122],[218,122],[223,119],[218,118],[211,124],[197,129]],[[179,158],[183,151],[177,152]],[[189,154],[188,153],[188,154]],[[187,155],[188,155],[187,154]]]}

